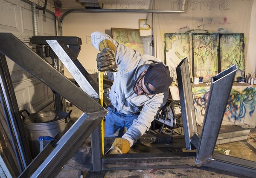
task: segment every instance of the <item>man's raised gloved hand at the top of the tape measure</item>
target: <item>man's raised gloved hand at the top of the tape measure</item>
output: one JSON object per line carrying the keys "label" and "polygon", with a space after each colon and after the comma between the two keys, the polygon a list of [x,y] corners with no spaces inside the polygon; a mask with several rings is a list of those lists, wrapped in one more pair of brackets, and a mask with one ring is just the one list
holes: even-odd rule
{"label": "man's raised gloved hand at the top of the tape measure", "polygon": [[115,60],[116,54],[115,52],[110,48],[105,48],[97,55],[97,69],[100,72],[108,71],[110,69],[115,68],[116,66],[116,60]]}

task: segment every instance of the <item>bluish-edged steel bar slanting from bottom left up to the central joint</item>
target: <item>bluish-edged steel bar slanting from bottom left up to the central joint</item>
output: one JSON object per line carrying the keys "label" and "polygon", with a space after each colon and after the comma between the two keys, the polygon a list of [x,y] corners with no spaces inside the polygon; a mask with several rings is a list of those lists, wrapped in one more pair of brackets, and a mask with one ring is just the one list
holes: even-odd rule
{"label": "bluish-edged steel bar slanting from bottom left up to the central joint", "polygon": [[61,168],[70,160],[106,114],[107,111],[94,112],[90,115],[82,114],[76,123],[61,137],[55,149],[31,177],[46,178],[58,175]]}

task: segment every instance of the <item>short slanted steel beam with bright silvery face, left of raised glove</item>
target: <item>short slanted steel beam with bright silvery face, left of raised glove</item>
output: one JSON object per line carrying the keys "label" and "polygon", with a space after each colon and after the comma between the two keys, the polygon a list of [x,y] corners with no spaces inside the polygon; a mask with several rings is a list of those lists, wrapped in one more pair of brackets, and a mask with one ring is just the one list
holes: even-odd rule
{"label": "short slanted steel beam with bright silvery face, left of raised glove", "polygon": [[[88,95],[93,98],[99,98],[99,86],[89,73],[84,69],[82,64],[76,58],[75,55],[70,51],[63,40],[47,40],[47,43],[51,49],[55,52],[61,62],[66,66],[67,70],[79,84],[81,89],[84,90]],[[104,95],[103,100],[105,106],[110,104],[108,98]]]}

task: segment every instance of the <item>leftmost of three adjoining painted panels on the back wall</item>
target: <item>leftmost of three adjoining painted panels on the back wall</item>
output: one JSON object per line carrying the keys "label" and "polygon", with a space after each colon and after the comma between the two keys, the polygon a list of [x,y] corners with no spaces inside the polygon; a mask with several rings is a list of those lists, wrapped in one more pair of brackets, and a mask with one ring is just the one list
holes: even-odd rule
{"label": "leftmost of three adjoining painted panels on the back wall", "polygon": [[[166,65],[169,66],[171,76],[176,78],[176,67],[185,57],[188,58],[189,67],[190,62],[190,44],[189,34],[166,33],[165,34],[165,55]],[[190,70],[191,71],[191,70]]]}

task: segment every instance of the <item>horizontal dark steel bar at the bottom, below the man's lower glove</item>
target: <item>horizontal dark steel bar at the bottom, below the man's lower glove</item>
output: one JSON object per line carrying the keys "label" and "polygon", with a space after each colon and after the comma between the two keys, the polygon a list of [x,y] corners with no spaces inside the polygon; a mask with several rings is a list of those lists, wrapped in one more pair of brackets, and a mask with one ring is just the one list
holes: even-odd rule
{"label": "horizontal dark steel bar at the bottom, below the man's lower glove", "polygon": [[102,170],[165,169],[195,166],[195,152],[103,155]]}

